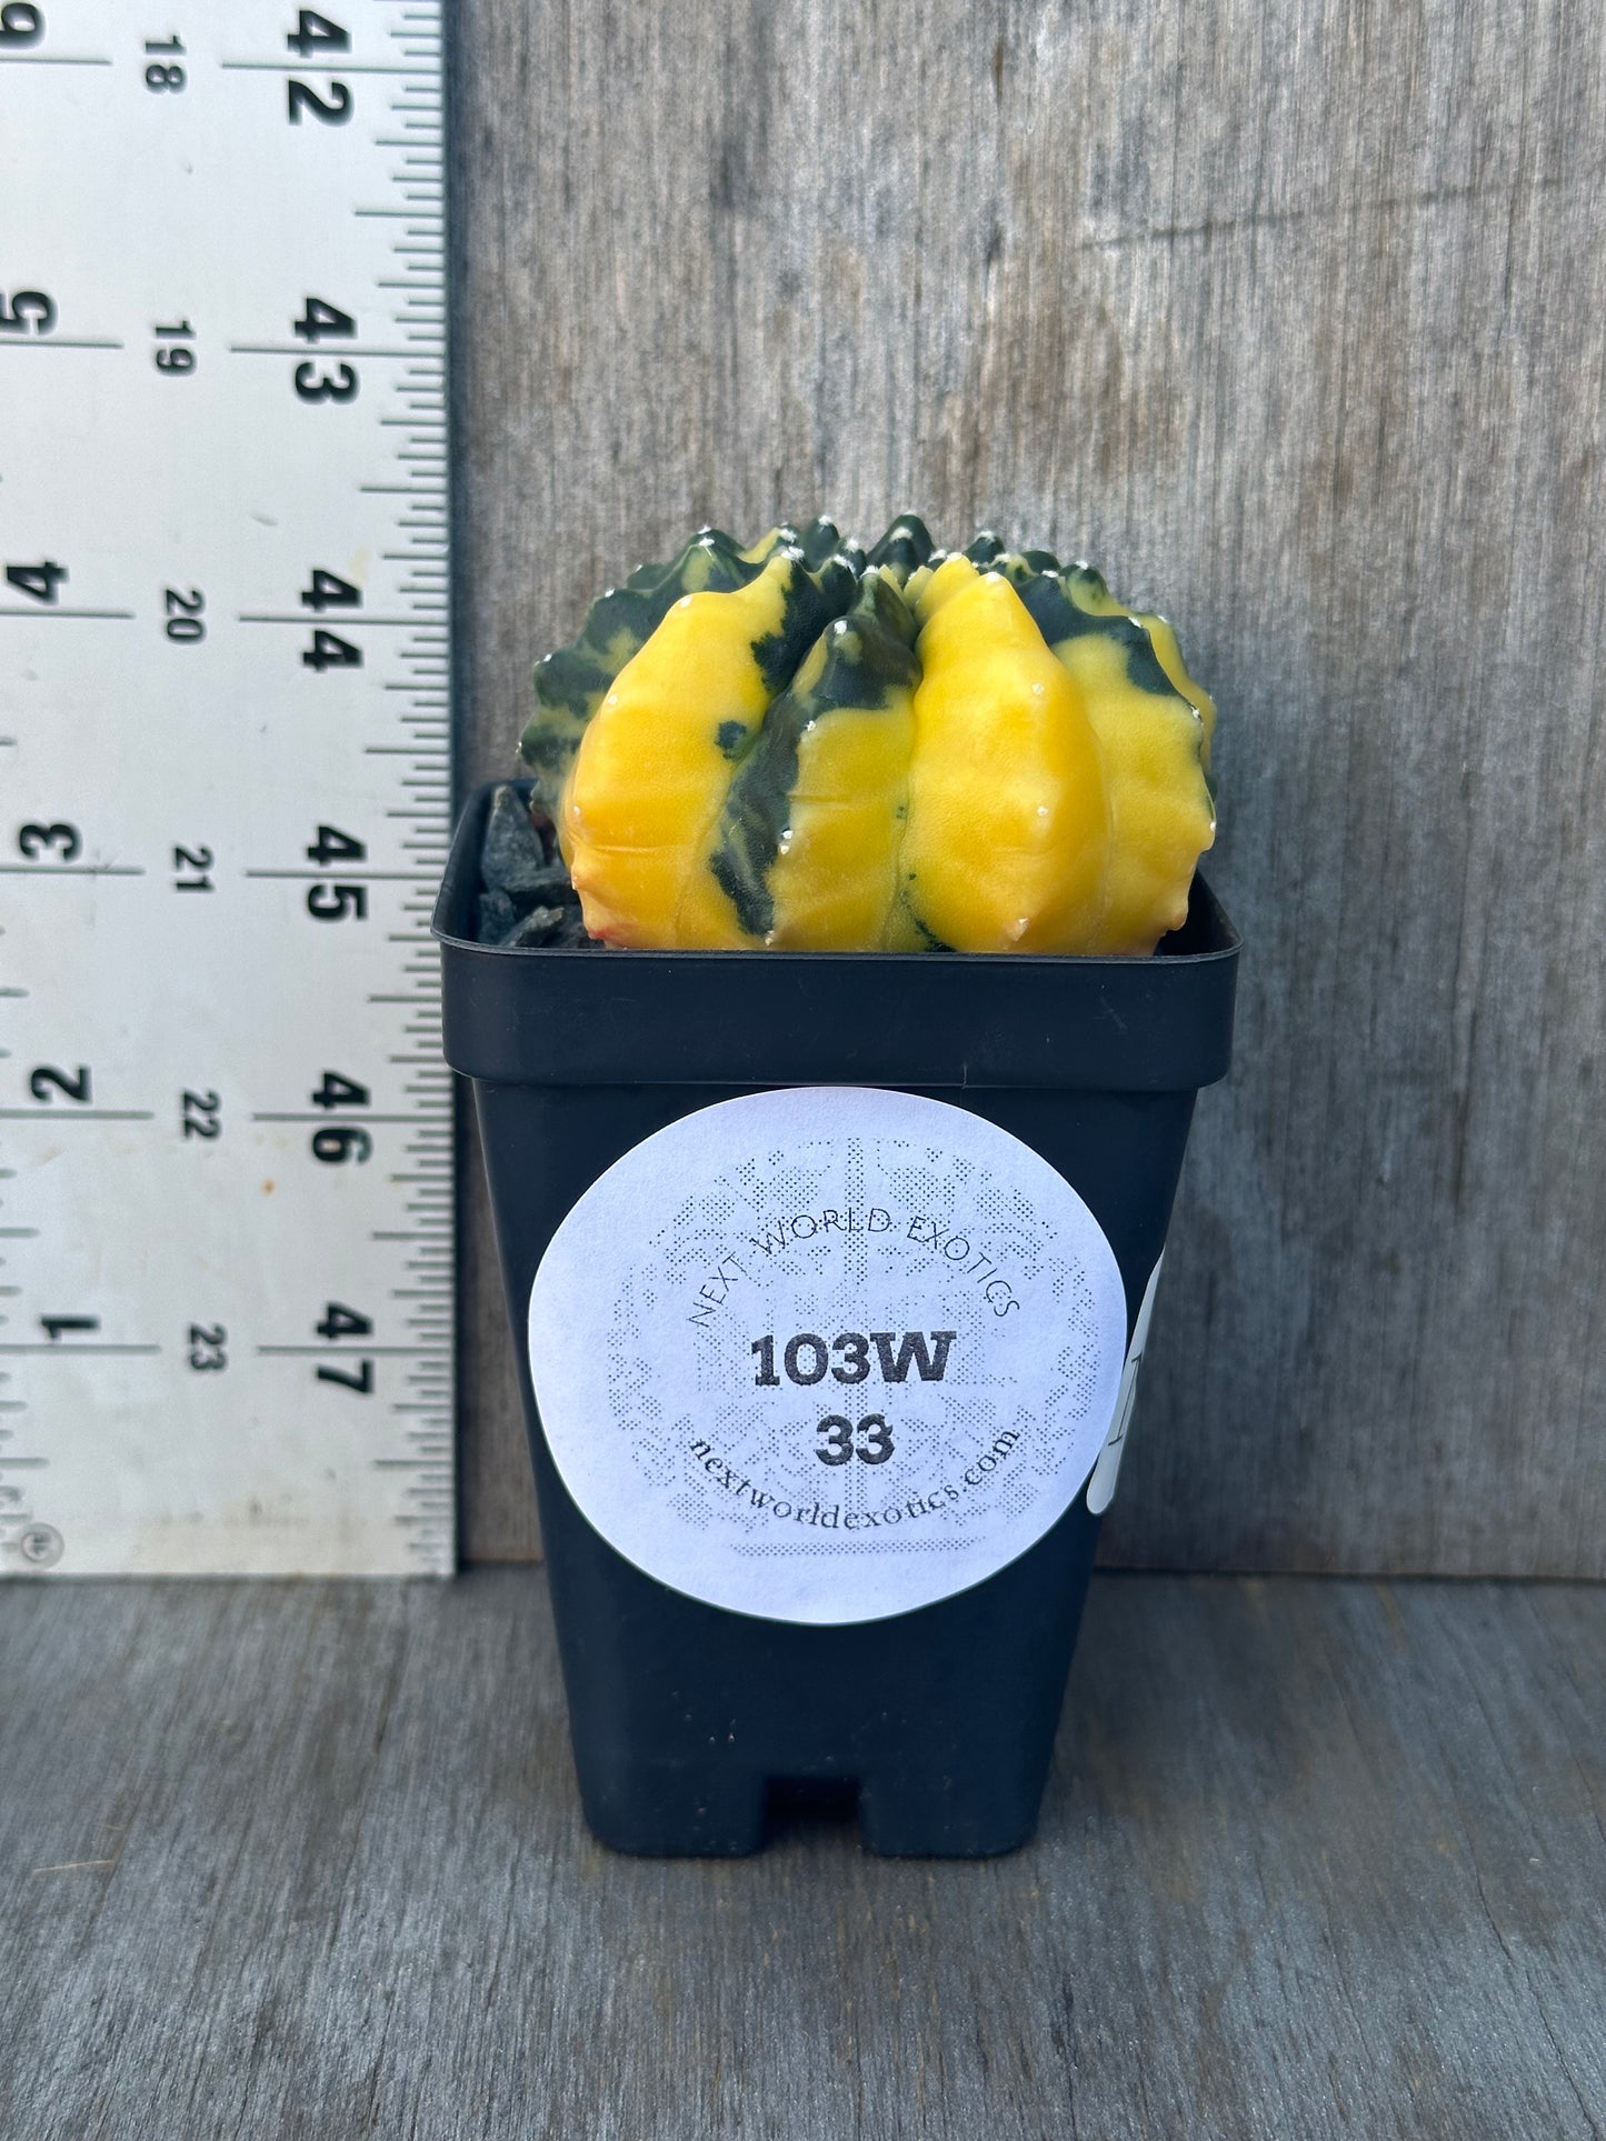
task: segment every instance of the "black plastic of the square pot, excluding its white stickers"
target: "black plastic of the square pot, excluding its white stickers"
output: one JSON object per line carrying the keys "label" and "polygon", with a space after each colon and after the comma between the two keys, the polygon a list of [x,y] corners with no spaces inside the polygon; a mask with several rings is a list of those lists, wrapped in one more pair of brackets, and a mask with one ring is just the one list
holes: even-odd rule
{"label": "black plastic of the square pot, excluding its white stickers", "polygon": [[869,1085],[968,1109],[1071,1182],[1113,1248],[1131,1336],[1195,1094],[1227,1070],[1227,916],[1197,882],[1154,959],[497,951],[473,942],[488,801],[463,814],[435,910],[445,1053],[475,1090],[591,1828],[627,1852],[752,1852],[773,1794],[801,1786],[857,1792],[876,1852],[1019,1846],[1099,1539],[1086,1492],[1019,1559],[912,1612],[822,1627],[711,1606],[576,1507],[525,1312],[555,1229],[642,1139],[737,1094]]}

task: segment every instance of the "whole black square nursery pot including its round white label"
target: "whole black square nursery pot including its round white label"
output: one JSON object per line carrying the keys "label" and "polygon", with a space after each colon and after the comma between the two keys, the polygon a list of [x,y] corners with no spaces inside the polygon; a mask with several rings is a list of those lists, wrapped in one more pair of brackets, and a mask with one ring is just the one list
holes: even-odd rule
{"label": "whole black square nursery pot including its round white label", "polygon": [[[857,1794],[1030,1837],[1238,938],[1152,959],[499,951],[435,912],[473,1079],[574,1760],[627,1852]],[[531,1375],[533,1370],[533,1375]]]}

